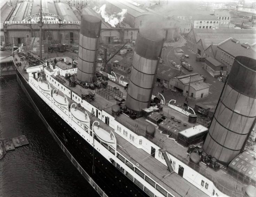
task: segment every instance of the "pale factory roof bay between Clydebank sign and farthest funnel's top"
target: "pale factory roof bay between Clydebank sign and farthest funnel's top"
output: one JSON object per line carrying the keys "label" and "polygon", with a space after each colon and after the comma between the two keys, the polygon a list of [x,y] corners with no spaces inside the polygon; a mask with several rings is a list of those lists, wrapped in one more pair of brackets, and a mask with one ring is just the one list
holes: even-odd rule
{"label": "pale factory roof bay between Clydebank sign and farthest funnel's top", "polygon": [[67,3],[55,3],[55,7],[59,16],[63,17],[67,21],[78,21],[75,13],[69,7]]}

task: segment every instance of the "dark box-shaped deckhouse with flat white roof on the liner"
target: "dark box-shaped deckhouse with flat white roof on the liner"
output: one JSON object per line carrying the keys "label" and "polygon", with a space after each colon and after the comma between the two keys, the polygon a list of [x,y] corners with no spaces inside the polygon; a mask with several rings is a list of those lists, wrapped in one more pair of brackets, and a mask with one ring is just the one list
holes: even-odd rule
{"label": "dark box-shaped deckhouse with flat white roof on the liner", "polygon": [[178,142],[183,146],[188,146],[190,144],[195,144],[204,140],[208,129],[202,125],[196,125],[194,127],[188,128],[179,132]]}

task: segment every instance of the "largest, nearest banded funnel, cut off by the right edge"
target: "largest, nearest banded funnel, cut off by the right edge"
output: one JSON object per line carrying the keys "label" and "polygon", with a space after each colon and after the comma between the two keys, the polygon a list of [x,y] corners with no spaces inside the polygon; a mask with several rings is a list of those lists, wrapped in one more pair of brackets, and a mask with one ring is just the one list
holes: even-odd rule
{"label": "largest, nearest banded funnel, cut off by the right edge", "polygon": [[224,85],[203,150],[228,164],[243,150],[256,120],[256,60],[237,56]]}

